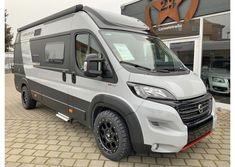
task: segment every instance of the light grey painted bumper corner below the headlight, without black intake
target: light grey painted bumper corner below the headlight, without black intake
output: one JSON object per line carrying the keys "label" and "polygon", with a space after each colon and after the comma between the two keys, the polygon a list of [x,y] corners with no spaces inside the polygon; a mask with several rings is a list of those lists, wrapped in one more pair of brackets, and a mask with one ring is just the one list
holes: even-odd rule
{"label": "light grey painted bumper corner below the headlight, without black intake", "polygon": [[183,124],[174,108],[145,100],[139,107],[137,116],[142,128],[144,143],[147,145],[159,144],[159,152],[168,152],[169,150],[164,148],[166,146],[172,147],[169,152],[178,152],[187,144],[187,126]]}

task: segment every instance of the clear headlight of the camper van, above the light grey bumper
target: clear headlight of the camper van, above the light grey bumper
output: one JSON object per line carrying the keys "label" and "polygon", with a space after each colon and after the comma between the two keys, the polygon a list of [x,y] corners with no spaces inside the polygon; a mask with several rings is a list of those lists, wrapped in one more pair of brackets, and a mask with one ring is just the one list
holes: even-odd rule
{"label": "clear headlight of the camper van, above the light grey bumper", "polygon": [[140,85],[135,83],[128,83],[131,90],[139,97],[147,98],[157,98],[157,99],[171,99],[174,100],[175,97],[165,89]]}

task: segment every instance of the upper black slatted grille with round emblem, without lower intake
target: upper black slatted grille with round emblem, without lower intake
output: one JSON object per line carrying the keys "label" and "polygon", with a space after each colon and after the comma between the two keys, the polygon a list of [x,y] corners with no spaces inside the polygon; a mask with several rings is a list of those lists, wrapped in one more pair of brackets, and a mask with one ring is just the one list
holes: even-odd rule
{"label": "upper black slatted grille with round emblem, without lower intake", "polygon": [[176,109],[184,124],[190,125],[210,116],[211,105],[211,95],[207,94],[199,98],[179,101]]}

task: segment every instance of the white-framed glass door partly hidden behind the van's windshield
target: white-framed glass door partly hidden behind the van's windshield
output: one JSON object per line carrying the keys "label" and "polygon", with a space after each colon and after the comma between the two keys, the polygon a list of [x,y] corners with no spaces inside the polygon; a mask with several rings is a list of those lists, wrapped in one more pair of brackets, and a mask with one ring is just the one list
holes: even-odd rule
{"label": "white-framed glass door partly hidden behind the van's windshield", "polygon": [[179,57],[191,71],[200,76],[201,55],[198,38],[165,40],[164,43]]}

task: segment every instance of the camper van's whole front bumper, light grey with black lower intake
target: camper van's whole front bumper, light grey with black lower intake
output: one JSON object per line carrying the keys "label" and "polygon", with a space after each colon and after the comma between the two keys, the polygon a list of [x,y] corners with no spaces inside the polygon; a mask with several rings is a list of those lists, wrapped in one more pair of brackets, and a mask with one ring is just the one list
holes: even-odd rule
{"label": "camper van's whole front bumper, light grey with black lower intake", "polygon": [[203,121],[185,125],[178,111],[166,104],[144,101],[137,111],[144,145],[152,152],[179,152],[185,146],[210,133],[215,127],[214,100],[212,112]]}

